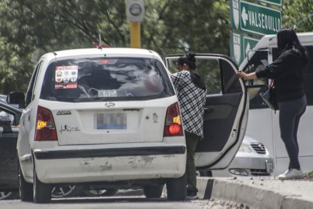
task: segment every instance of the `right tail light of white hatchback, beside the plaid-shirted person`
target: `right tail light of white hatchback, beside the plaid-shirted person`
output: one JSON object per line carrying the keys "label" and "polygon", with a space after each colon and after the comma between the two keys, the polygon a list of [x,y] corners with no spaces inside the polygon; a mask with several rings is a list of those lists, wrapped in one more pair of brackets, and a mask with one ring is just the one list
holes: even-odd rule
{"label": "right tail light of white hatchback, beside the plaid-shirted person", "polygon": [[163,137],[183,136],[178,102],[170,105],[166,111]]}

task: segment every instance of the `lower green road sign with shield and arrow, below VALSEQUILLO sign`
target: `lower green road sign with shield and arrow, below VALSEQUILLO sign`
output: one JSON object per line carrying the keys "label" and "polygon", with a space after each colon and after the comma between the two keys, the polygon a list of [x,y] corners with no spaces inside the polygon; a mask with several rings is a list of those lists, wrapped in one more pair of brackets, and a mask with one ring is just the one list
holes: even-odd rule
{"label": "lower green road sign with shield and arrow, below VALSEQUILLO sign", "polygon": [[243,36],[237,33],[230,34],[230,56],[235,63],[240,64],[247,57],[247,54],[259,42],[258,39]]}

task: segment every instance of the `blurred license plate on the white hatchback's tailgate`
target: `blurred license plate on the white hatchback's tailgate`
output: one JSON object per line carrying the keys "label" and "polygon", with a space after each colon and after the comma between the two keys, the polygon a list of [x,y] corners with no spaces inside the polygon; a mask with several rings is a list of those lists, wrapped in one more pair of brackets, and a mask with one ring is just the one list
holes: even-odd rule
{"label": "blurred license plate on the white hatchback's tailgate", "polygon": [[127,129],[126,113],[93,114],[93,129]]}

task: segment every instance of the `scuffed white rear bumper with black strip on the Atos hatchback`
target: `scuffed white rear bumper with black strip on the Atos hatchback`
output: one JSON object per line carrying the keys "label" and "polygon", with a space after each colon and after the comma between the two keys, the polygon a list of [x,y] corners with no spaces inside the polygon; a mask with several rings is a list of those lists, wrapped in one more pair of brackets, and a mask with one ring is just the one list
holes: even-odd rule
{"label": "scuffed white rear bumper with black strip on the Atos hatchback", "polygon": [[186,167],[185,146],[35,150],[34,156],[37,177],[47,184],[179,178]]}

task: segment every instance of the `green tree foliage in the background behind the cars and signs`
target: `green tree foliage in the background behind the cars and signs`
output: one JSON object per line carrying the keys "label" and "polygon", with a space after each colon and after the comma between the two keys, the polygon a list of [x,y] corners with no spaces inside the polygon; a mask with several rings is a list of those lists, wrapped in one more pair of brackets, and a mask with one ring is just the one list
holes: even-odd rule
{"label": "green tree foliage in the background behind the cars and signs", "polygon": [[[283,0],[283,25],[310,14],[313,0]],[[141,46],[159,54],[229,54],[228,0],[145,0]],[[0,93],[25,91],[32,54],[93,47],[130,46],[125,0],[0,0]],[[312,19],[298,31],[311,31]],[[35,58],[35,60],[38,59]]]}

